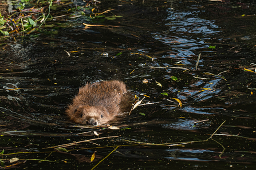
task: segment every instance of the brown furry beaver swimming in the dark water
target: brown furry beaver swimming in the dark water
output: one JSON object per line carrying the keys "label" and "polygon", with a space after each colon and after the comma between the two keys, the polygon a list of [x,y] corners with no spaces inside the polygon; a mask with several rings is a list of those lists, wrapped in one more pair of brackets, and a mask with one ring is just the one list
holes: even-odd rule
{"label": "brown furry beaver swimming in the dark water", "polygon": [[88,125],[107,123],[118,114],[125,93],[127,93],[126,86],[119,80],[87,83],[84,87],[80,87],[66,114],[75,123]]}

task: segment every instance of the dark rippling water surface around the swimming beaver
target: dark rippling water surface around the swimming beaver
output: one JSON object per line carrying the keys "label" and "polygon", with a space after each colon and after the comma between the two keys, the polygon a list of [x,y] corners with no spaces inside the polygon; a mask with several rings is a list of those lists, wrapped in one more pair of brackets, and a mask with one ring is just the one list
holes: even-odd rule
{"label": "dark rippling water surface around the swimming beaver", "polygon": [[[254,169],[256,74],[244,68],[256,63],[255,2],[100,5],[109,8],[123,17],[60,20],[47,34],[2,46],[0,151],[17,152],[1,158],[5,166],[18,157],[11,168],[91,169],[119,146],[96,169]],[[82,23],[108,27],[84,29]],[[123,119],[112,123],[119,130],[70,122],[65,108],[78,88],[111,79],[123,80],[140,99],[149,96],[144,103],[160,103],[120,113]],[[69,152],[44,149],[98,138],[92,131],[118,137],[66,147]]]}

